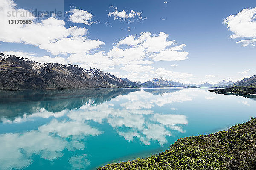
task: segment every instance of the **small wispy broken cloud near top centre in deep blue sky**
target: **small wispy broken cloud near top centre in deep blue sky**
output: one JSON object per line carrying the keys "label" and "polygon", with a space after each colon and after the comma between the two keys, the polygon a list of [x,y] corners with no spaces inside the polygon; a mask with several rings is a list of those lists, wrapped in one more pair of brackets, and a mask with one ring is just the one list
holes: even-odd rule
{"label": "small wispy broken cloud near top centre in deep blue sky", "polygon": [[[115,11],[108,13],[108,17],[113,16],[114,20],[116,20],[116,19],[126,20],[126,19],[131,19],[131,18],[133,18],[133,19],[137,18],[138,20],[146,19],[146,18],[142,18],[141,12],[135,12],[134,10],[131,10],[130,12],[125,11],[125,10],[118,11],[116,7],[114,9],[115,9]],[[132,21],[130,20],[130,22],[132,22]]]}

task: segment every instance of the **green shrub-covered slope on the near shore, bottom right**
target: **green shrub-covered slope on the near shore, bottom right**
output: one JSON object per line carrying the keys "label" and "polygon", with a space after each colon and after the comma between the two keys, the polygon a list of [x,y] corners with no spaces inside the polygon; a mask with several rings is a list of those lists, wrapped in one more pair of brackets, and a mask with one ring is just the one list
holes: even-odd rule
{"label": "green shrub-covered slope on the near shore, bottom right", "polygon": [[256,170],[256,118],[227,131],[181,138],[159,155],[98,170]]}

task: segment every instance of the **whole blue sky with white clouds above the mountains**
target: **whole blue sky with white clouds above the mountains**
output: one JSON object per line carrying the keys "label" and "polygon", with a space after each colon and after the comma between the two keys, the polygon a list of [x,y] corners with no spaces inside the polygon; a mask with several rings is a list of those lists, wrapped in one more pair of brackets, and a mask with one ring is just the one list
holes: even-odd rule
{"label": "whole blue sky with white clouds above the mountains", "polygon": [[255,18],[255,0],[0,0],[0,52],[131,81],[235,82],[256,75]]}

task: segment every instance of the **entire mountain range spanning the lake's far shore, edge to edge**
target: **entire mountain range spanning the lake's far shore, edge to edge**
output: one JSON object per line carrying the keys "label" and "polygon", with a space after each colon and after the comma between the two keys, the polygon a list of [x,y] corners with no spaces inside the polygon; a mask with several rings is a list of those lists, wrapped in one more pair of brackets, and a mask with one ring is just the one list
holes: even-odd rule
{"label": "entire mountain range spanning the lake's far shore, edge to edge", "polygon": [[164,78],[153,78],[133,82],[128,78],[117,78],[100,69],[83,69],[78,65],[40,63],[29,58],[0,53],[0,89],[86,89],[112,87],[233,87],[256,86],[256,75],[236,83],[222,80],[217,84],[183,84]]}

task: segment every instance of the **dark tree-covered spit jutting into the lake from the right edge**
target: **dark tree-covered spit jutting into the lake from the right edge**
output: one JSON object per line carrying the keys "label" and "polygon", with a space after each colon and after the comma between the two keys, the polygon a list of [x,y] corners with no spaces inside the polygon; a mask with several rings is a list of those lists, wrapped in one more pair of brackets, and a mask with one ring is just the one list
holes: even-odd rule
{"label": "dark tree-covered spit jutting into the lake from the right edge", "polygon": [[209,90],[211,92],[216,92],[216,93],[231,93],[233,95],[255,95],[256,94],[256,87],[255,86],[236,86],[236,87],[230,87],[230,88],[225,88],[225,89],[214,89],[214,90]]}

